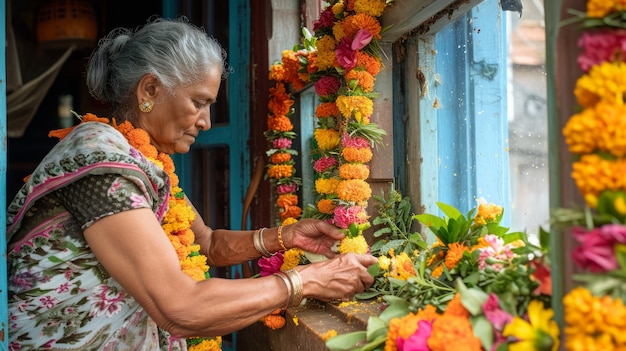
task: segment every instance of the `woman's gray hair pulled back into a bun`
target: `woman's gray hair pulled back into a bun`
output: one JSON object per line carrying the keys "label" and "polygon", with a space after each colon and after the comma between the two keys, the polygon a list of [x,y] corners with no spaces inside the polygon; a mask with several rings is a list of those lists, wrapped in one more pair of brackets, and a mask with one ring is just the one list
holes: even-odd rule
{"label": "woman's gray hair pulled back into a bun", "polygon": [[132,122],[135,89],[144,75],[154,75],[172,93],[216,68],[225,79],[226,51],[215,38],[185,17],[154,17],[136,29],[114,29],[98,42],[87,64],[87,87],[94,98],[111,105],[112,117]]}

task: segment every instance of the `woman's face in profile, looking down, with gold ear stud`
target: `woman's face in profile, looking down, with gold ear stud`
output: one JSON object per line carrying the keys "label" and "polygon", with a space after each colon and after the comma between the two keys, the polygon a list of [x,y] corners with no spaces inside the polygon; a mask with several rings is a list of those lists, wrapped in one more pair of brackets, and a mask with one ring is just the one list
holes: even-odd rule
{"label": "woman's face in profile, looking down, with gold ear stud", "polygon": [[167,154],[186,153],[198,133],[211,128],[211,104],[221,84],[221,72],[212,70],[204,80],[178,87],[169,94],[157,85],[152,111],[140,113],[138,127],[150,135],[152,144]]}

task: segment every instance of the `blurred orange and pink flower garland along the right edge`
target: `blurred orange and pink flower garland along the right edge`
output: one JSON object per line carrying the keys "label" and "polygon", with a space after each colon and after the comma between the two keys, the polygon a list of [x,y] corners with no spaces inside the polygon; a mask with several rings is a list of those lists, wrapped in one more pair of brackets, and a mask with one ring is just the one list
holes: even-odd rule
{"label": "blurred orange and pink flower garland along the right edge", "polygon": [[[574,11],[573,11],[574,12]],[[578,246],[572,258],[580,273],[563,298],[565,348],[626,348],[626,2],[590,0],[582,19],[574,95],[582,108],[563,127],[577,159],[572,178],[587,208],[560,209],[554,222]]]}

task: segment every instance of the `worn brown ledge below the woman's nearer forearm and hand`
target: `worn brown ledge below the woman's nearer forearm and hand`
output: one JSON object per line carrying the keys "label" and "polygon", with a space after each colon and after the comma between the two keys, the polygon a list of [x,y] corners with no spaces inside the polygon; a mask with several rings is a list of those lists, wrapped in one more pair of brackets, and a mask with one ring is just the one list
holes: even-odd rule
{"label": "worn brown ledge below the woman's nearer forearm and hand", "polygon": [[287,311],[285,326],[272,330],[254,325],[237,332],[238,351],[324,351],[328,350],[324,335],[335,330],[338,334],[365,330],[367,320],[381,312],[376,301],[330,304],[316,300]]}

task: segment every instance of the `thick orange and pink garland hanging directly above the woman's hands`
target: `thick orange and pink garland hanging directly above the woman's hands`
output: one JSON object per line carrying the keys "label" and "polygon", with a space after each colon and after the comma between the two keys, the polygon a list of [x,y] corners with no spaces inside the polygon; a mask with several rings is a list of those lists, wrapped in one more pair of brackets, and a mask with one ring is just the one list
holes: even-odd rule
{"label": "thick orange and pink garland hanging directly above the woman's hands", "polygon": [[366,253],[369,246],[362,234],[370,227],[367,204],[372,195],[368,163],[372,146],[386,134],[370,123],[375,77],[382,66],[379,17],[391,1],[326,2],[313,28],[320,104],[314,131],[317,200],[309,212],[344,230],[341,253]]}

